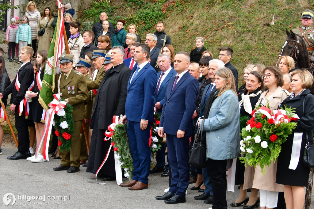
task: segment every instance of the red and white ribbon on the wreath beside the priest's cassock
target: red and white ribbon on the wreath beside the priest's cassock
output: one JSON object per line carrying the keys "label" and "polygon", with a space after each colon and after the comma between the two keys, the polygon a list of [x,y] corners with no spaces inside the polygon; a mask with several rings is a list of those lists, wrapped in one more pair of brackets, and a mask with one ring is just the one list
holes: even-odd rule
{"label": "red and white ribbon on the wreath beside the priest's cassock", "polygon": [[[115,126],[117,124],[119,124],[119,116],[118,115],[114,115],[113,118],[112,118],[112,124],[110,124],[108,126],[108,130],[105,132],[105,138],[104,138],[104,141],[109,141],[111,140],[111,137],[113,136],[114,134],[114,131],[115,131]],[[95,174],[95,178],[96,178],[96,181],[97,181],[97,174],[98,172],[100,171],[100,169],[102,168],[102,166],[106,163],[107,159],[108,159],[108,156],[109,156],[109,152],[111,150],[111,147],[112,147],[112,143],[110,144],[110,147],[106,153],[106,157],[104,159],[104,161],[101,163],[99,169],[97,170],[96,174]],[[118,156],[116,155],[116,153],[114,153],[114,160],[115,160],[115,170],[116,170],[116,182],[118,185],[120,185],[123,181],[122,181],[122,171],[121,171],[121,165],[122,163],[120,162]],[[98,184],[101,184],[101,185],[104,185],[106,183],[100,183],[97,181]]]}

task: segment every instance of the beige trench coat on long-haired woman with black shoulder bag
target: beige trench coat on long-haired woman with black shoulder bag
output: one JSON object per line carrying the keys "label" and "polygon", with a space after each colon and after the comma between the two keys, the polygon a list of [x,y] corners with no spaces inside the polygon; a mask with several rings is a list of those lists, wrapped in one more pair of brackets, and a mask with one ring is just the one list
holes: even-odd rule
{"label": "beige trench coat on long-haired woman with black shoulder bag", "polygon": [[[50,19],[50,21],[47,25],[47,28],[45,28],[48,20],[49,20],[48,18],[47,19],[45,19],[45,18],[41,19],[39,21],[38,26],[37,26],[36,37],[39,37],[37,52],[41,51],[41,50],[46,50],[47,52],[49,52],[49,48],[51,45],[50,37],[52,38],[54,31],[52,30],[52,27],[51,27],[51,23],[53,21],[53,18]],[[44,35],[38,36],[38,31],[43,29],[43,28],[45,28]]]}

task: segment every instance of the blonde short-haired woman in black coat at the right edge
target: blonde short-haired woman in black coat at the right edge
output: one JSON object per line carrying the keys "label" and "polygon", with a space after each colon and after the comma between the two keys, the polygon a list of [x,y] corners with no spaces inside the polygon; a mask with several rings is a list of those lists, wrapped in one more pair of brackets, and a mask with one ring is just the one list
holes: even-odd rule
{"label": "blonde short-haired woman in black coat at the right edge", "polygon": [[[298,126],[288,136],[287,141],[281,145],[281,153],[278,157],[276,183],[284,185],[284,199],[286,206],[302,208],[304,205],[304,186],[307,186],[310,169],[303,165],[303,154],[307,139],[313,143],[314,131],[314,96],[308,88],[313,83],[313,77],[307,70],[296,70],[291,73],[291,86],[293,92],[279,106],[295,108],[295,114],[299,116],[296,122]],[[300,141],[300,158],[296,168],[290,167],[290,159],[293,150],[294,138],[297,133],[302,134]],[[296,152],[298,153],[298,152]],[[293,164],[293,163],[292,163]]]}

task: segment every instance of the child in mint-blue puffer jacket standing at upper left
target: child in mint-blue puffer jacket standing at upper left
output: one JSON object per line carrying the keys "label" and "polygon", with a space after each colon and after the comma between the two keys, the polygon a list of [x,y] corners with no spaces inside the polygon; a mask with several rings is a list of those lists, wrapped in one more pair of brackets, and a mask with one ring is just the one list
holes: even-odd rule
{"label": "child in mint-blue puffer jacket standing at upper left", "polygon": [[[22,24],[19,26],[16,33],[15,43],[19,44],[19,51],[21,51],[23,46],[27,46],[32,41],[32,31],[28,25],[27,17],[21,18]],[[22,64],[21,58],[19,57],[19,64]]]}

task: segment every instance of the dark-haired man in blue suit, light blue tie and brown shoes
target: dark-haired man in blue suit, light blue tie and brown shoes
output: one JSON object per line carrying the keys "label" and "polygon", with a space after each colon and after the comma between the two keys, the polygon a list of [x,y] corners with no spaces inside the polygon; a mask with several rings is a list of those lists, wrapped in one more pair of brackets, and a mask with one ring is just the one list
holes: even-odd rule
{"label": "dark-haired man in blue suit, light blue tie and brown shoes", "polygon": [[148,62],[149,46],[138,44],[134,51],[134,60],[138,67],[131,74],[127,85],[125,115],[127,137],[133,158],[133,177],[120,186],[129,190],[142,190],[148,187],[150,148],[149,133],[154,119],[154,96],[157,73]]}

